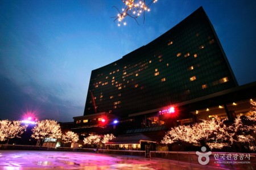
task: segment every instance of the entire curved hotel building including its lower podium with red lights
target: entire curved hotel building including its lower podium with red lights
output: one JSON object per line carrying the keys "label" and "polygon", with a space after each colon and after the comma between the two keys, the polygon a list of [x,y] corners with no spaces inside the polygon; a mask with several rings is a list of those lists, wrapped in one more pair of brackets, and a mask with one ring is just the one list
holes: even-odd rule
{"label": "entire curved hotel building including its lower podium with red lights", "polygon": [[84,116],[74,117],[75,126],[88,132],[145,134],[214,114],[232,118],[247,113],[249,99],[255,97],[250,88],[255,83],[238,86],[200,7],[147,45],[93,70]]}

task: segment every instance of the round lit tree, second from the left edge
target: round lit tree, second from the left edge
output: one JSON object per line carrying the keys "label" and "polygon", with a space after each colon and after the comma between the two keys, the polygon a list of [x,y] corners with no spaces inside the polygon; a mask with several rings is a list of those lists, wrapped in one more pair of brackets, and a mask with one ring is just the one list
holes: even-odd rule
{"label": "round lit tree, second from the left edge", "polygon": [[61,138],[60,125],[54,120],[42,120],[36,122],[32,129],[32,138],[40,139],[40,146],[47,138]]}

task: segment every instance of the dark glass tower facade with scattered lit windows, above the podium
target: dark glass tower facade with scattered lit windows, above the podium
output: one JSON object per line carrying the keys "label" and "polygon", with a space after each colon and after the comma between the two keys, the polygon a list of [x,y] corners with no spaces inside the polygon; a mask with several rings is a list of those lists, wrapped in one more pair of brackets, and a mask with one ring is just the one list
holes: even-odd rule
{"label": "dark glass tower facade with scattered lit windows, above the podium", "polygon": [[202,7],[149,44],[93,70],[84,116],[119,117],[237,86]]}

